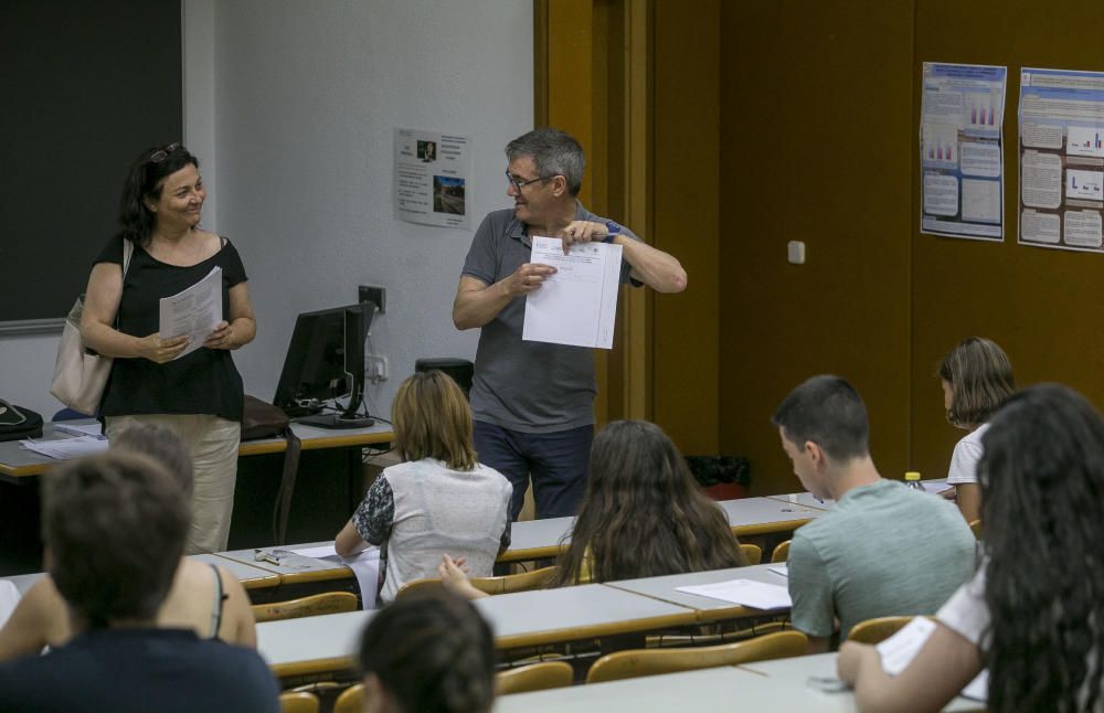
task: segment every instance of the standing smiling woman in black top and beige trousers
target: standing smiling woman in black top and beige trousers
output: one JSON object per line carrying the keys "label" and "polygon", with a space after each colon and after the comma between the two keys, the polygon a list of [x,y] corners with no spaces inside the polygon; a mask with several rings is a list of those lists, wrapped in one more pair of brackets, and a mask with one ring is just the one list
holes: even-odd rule
{"label": "standing smiling woman in black top and beige trousers", "polygon": [[[97,414],[108,436],[135,423],[159,423],[191,450],[188,553],[226,549],[244,401],[230,351],[256,334],[237,251],[199,227],[205,198],[199,160],[188,149],[171,143],[144,151],[123,188],[119,233],[92,268],[81,319],[85,347],[115,358]],[[159,333],[159,300],[215,267],[222,269],[222,321],[183,353],[188,337]]]}

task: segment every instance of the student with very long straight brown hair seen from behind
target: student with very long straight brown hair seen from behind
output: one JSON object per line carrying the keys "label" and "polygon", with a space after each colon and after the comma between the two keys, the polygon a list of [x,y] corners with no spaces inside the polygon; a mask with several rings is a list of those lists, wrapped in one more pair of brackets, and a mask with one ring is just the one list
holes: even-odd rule
{"label": "student with very long straight brown hair seen from behind", "polygon": [[[550,586],[612,582],[746,564],[724,511],[690,475],[667,434],[646,421],[615,421],[591,447],[590,477]],[[480,596],[446,553],[439,574],[461,596]]]}

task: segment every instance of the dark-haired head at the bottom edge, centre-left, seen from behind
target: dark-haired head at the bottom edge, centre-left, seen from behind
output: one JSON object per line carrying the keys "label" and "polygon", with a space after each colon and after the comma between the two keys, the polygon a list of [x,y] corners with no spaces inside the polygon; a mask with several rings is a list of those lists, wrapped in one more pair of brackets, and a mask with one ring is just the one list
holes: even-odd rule
{"label": "dark-haired head at the bottom edge, centre-left, seen from behind", "polygon": [[372,617],[360,645],[367,713],[484,713],[495,699],[495,642],[467,602],[437,589]]}

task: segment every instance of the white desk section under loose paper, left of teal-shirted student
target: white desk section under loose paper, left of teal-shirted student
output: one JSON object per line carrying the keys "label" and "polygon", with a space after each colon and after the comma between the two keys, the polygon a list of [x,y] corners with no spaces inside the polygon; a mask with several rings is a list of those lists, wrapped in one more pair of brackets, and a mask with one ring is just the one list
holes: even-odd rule
{"label": "white desk section under loose paper, left of teal-shirted student", "polygon": [[788,609],[755,609],[741,606],[731,602],[703,597],[697,594],[678,592],[678,587],[692,586],[698,584],[713,584],[714,582],[726,582],[729,579],[752,579],[764,584],[773,584],[785,587],[786,577],[772,572],[767,564],[755,564],[746,567],[731,567],[728,570],[712,570],[710,572],[692,572],[689,574],[671,574],[661,577],[644,577],[640,579],[623,579],[620,582],[608,582],[606,586],[633,594],[639,594],[660,602],[667,602],[681,607],[692,609],[699,622],[719,621],[721,619],[736,619],[749,616],[763,616],[764,614],[785,614]]}

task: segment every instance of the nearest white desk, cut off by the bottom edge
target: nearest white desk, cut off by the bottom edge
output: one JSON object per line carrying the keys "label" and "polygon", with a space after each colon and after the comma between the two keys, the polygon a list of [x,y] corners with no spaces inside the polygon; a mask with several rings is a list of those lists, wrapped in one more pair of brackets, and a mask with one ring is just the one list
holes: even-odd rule
{"label": "nearest white desk, cut off by the bottom edge", "polygon": [[[777,666],[775,666],[777,664]],[[836,655],[647,675],[551,691],[503,695],[495,713],[607,713],[611,710],[659,713],[694,711],[778,711],[845,713],[854,711],[850,691],[826,693],[810,688],[809,675],[835,677]],[[976,711],[979,703],[955,699],[946,711]]]}

